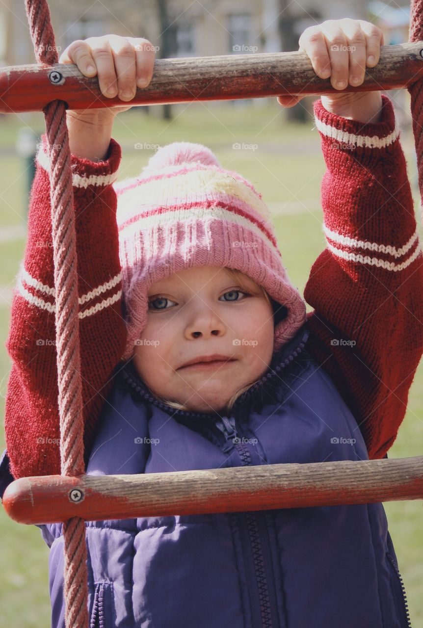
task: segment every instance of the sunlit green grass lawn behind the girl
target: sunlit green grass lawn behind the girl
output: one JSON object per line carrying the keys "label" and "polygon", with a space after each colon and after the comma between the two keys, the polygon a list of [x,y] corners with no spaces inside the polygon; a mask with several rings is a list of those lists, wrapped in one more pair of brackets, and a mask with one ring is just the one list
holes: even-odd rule
{"label": "sunlit green grass lawn behind the girl", "polygon": [[[292,282],[302,291],[311,264],[324,248],[320,185],[325,171],[320,138],[314,122],[287,124],[275,100],[248,103],[192,104],[174,107],[171,123],[134,108],[116,121],[114,138],[123,148],[119,180],[140,173],[158,144],[196,141],[209,146],[225,168],[238,171],[263,194],[277,229],[283,260]],[[43,133],[43,117],[25,114],[0,119],[0,413],[9,374],[4,342],[14,278],[25,248],[25,163],[14,152],[21,126]],[[244,148],[237,148],[244,144]],[[247,144],[248,146],[245,146]],[[138,148],[136,146],[138,145]],[[409,175],[415,178],[413,141],[404,131],[403,146]],[[413,189],[415,206],[419,194]],[[423,367],[410,391],[409,407],[390,458],[422,455]],[[0,431],[3,452],[4,431]],[[390,533],[409,600],[414,628],[423,626],[423,510],[422,502],[385,504]],[[21,526],[0,510],[0,628],[50,625],[48,548],[35,526]]]}

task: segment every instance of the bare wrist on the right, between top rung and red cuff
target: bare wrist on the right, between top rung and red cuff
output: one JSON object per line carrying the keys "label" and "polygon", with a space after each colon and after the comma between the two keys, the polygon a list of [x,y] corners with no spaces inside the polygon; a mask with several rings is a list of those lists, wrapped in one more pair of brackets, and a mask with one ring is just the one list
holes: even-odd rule
{"label": "bare wrist on the right, between top rung and red cuff", "polygon": [[379,91],[322,95],[321,102],[326,111],[363,124],[374,124],[382,118],[383,103]]}

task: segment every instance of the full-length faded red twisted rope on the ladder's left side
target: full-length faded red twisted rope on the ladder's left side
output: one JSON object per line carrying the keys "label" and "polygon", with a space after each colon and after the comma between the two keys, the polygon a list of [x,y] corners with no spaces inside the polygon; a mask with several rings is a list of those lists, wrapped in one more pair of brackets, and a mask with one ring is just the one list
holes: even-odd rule
{"label": "full-length faded red twisted rope on the ladder's left side", "polygon": [[[25,0],[25,3],[37,63],[58,63],[47,0]],[[77,252],[69,134],[65,103],[62,100],[53,100],[43,112],[50,158],[61,472],[62,475],[74,476],[84,474],[85,467]],[[63,537],[65,624],[69,628],[87,628],[84,520],[73,517],[63,522]]]}

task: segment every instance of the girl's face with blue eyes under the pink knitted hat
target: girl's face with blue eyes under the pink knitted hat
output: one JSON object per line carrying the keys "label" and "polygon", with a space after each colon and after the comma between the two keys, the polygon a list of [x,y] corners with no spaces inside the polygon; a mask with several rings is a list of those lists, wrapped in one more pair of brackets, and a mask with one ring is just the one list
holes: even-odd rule
{"label": "girl's face with blue eyes under the pink knitted hat", "polygon": [[[272,306],[252,279],[243,278],[255,295],[212,266],[185,269],[149,288],[134,364],[155,395],[192,411],[220,411],[241,386],[265,373],[273,352]],[[212,354],[233,361],[183,368]]]}

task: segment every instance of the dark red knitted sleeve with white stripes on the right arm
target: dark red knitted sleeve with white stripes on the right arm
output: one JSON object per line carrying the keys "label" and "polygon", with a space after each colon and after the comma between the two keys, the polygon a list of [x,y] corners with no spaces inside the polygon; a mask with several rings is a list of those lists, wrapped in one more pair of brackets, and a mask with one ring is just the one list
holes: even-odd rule
{"label": "dark red knitted sleeve with white stripes on the right arm", "polygon": [[423,264],[392,102],[363,124],[314,102],[326,249],[305,300],[310,352],[354,414],[370,458],[392,445],[423,347]]}

